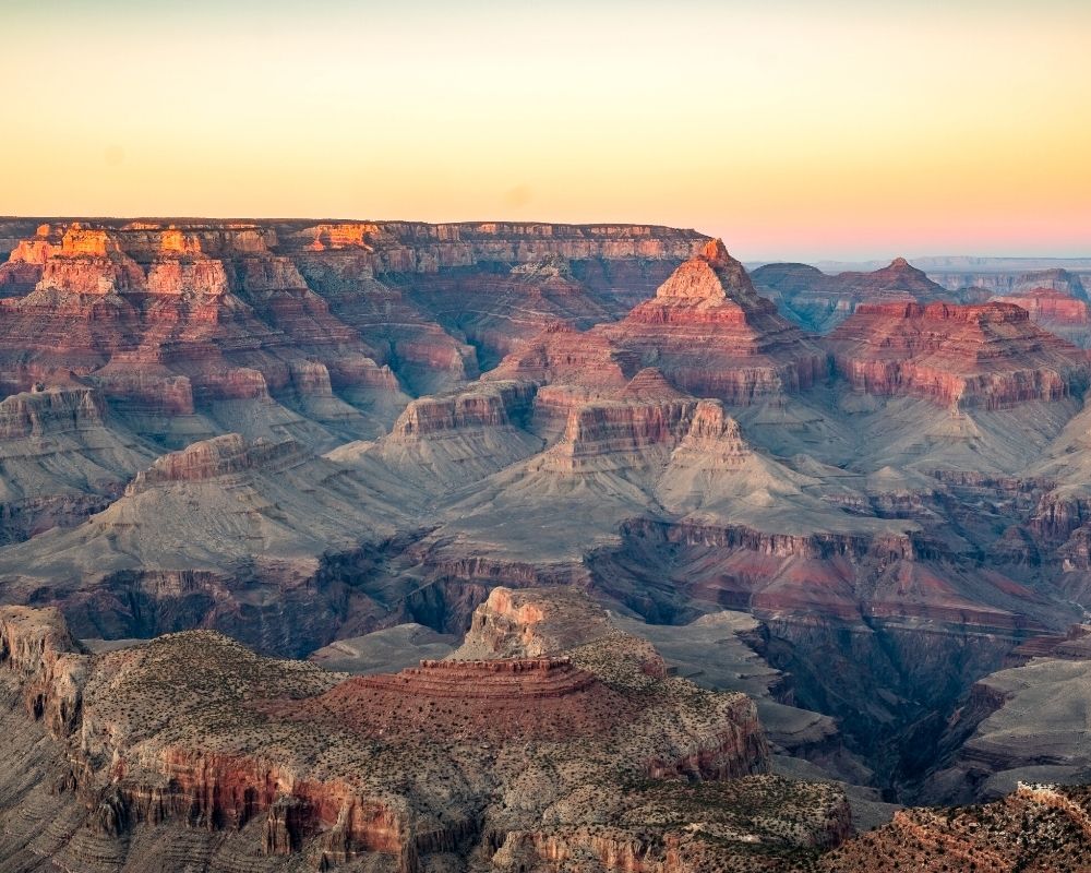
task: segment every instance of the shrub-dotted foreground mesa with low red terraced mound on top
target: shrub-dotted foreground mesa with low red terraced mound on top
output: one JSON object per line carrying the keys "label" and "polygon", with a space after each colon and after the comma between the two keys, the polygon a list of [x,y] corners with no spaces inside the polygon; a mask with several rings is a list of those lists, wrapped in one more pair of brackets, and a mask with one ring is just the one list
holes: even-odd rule
{"label": "shrub-dotted foreground mesa with low red terraced mound on top", "polygon": [[[22,790],[0,777],[0,859],[158,869],[149,848],[175,839],[164,858],[219,865],[422,873],[472,858],[546,873],[595,846],[607,870],[639,858],[633,869],[687,873],[751,857],[744,815],[786,858],[846,836],[837,789],[751,775],[768,762],[747,698],[649,674],[647,649],[612,632],[564,656],[345,680],[208,632],[91,656],[58,613],[7,609],[0,691],[23,704],[5,708],[0,743],[26,756],[19,743],[36,737],[39,757]],[[422,708],[424,721],[408,716]],[[663,781],[679,774],[690,782]],[[715,842],[645,812],[680,802],[709,816]],[[730,812],[698,812],[712,808]],[[72,826],[44,839],[24,828],[34,815]]]}

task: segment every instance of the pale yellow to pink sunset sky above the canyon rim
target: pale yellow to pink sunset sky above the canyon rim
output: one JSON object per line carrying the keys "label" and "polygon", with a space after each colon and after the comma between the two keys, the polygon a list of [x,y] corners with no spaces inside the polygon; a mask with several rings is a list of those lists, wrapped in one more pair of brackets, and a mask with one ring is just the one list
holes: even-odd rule
{"label": "pale yellow to pink sunset sky above the canyon rim", "polygon": [[1091,254],[1091,2],[0,0],[0,214]]}

